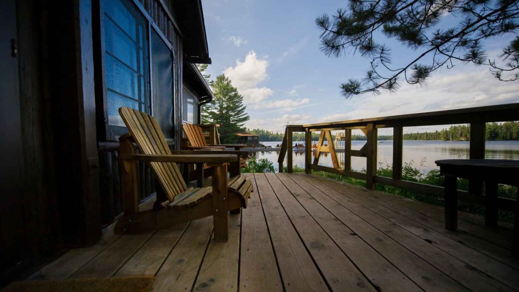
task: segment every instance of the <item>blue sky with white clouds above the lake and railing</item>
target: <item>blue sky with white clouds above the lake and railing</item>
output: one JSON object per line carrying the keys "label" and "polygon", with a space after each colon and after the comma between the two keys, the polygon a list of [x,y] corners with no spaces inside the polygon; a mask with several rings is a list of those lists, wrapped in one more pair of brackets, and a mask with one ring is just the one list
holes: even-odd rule
{"label": "blue sky with white clouds above the lake and railing", "polygon": [[[353,54],[326,57],[319,49],[320,31],[314,21],[323,13],[334,14],[347,1],[202,0],[202,5],[213,61],[208,73],[213,78],[225,73],[238,88],[251,117],[246,124],[249,128],[283,131],[287,123],[519,102],[519,82],[499,82],[487,67],[472,64],[436,71],[425,86],[402,84],[394,94],[365,94],[346,100],[339,85],[361,77],[369,61]],[[446,22],[453,20],[447,16]],[[489,55],[497,56],[510,39],[489,42]],[[393,41],[386,43],[394,45],[395,63],[416,54]]]}

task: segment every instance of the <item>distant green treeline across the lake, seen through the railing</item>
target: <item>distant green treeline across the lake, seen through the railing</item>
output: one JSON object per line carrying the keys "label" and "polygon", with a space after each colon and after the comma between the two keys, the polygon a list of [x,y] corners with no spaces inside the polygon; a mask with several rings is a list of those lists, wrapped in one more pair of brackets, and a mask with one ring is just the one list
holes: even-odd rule
{"label": "distant green treeline across the lake, seen through the railing", "polygon": [[[249,129],[252,134],[260,136],[260,141],[281,141],[283,133],[275,133],[262,129]],[[292,134],[293,141],[304,141],[304,133]],[[332,138],[335,138],[332,135]],[[404,140],[470,140],[470,125],[455,125],[434,132],[417,132],[404,134]],[[319,134],[312,132],[312,141],[319,140]],[[351,135],[351,140],[366,140],[364,135]],[[378,140],[393,140],[392,135],[378,136]],[[487,123],[486,140],[519,140],[519,122]]]}

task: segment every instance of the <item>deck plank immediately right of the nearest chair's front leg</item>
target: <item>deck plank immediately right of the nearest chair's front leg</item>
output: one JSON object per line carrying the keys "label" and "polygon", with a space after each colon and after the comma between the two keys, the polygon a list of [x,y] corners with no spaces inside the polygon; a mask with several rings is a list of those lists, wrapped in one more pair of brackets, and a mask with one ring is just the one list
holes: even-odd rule
{"label": "deck plank immediately right of the nearest chair's front leg", "polygon": [[254,175],[245,176],[256,191],[252,192],[247,209],[242,210],[240,291],[283,291]]}

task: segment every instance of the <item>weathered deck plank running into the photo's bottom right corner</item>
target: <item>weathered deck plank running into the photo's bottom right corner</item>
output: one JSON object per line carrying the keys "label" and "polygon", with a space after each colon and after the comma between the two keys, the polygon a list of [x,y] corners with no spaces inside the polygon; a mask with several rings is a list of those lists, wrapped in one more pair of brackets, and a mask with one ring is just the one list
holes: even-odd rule
{"label": "weathered deck plank running into the photo's bottom right corner", "polygon": [[[317,180],[326,180],[317,178]],[[409,232],[398,224],[378,215],[376,211],[362,206],[352,200],[351,189],[345,188],[343,183],[337,181],[326,180],[327,184],[324,188],[327,191],[335,190],[342,195],[337,197],[337,202],[347,207],[366,221],[373,224],[377,229],[386,233],[386,235],[398,240],[400,244],[407,249],[412,250],[418,256],[426,259],[433,266],[443,271],[457,282],[463,284],[473,291],[510,291],[512,288],[502,284],[501,282],[491,278],[484,272],[475,269],[470,264],[461,261],[454,256],[446,253],[444,250],[422,240],[417,235]],[[358,194],[357,194],[358,196]],[[358,198],[358,197],[357,197]]]}

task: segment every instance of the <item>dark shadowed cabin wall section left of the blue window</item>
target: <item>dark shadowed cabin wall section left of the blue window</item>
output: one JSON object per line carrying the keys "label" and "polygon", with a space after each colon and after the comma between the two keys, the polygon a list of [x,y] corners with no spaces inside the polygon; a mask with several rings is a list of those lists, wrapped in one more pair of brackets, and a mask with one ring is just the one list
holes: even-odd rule
{"label": "dark shadowed cabin wall section left of the blue window", "polygon": [[15,60],[18,70],[3,67],[2,74],[17,72],[18,79],[9,82],[15,91],[2,100],[18,105],[2,108],[18,114],[19,123],[2,115],[11,121],[2,120],[1,126],[19,134],[2,140],[2,147],[22,155],[18,165],[3,164],[17,175],[12,183],[18,188],[3,197],[2,206],[10,211],[2,211],[2,224],[14,228],[2,230],[0,286],[63,247],[93,244],[101,235],[91,2],[8,0],[2,5],[14,3],[2,7],[9,14],[2,19],[16,22],[16,35],[1,42],[10,48],[4,45],[13,39],[16,54],[2,56]]}

